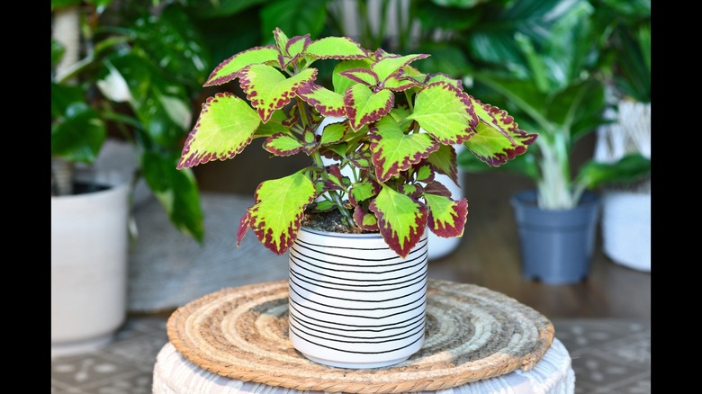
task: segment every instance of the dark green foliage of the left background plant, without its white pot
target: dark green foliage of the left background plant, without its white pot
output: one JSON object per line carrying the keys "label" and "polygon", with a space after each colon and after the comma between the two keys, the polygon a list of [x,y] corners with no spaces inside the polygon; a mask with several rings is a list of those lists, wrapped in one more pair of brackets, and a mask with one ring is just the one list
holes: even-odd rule
{"label": "dark green foliage of the left background plant, without its white pot", "polygon": [[53,0],[51,11],[51,194],[74,193],[76,166],[127,141],[132,185],[145,180],[175,227],[202,240],[195,177],[175,170],[211,65],[190,16],[147,1]]}

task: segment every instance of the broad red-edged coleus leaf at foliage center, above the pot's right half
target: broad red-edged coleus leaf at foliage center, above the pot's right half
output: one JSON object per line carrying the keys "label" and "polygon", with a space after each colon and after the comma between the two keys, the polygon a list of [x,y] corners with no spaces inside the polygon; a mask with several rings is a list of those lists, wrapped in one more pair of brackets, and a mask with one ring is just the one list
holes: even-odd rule
{"label": "broad red-edged coleus leaf at foliage center, above the pot's right half", "polygon": [[383,183],[439,148],[427,133],[405,134],[390,116],[369,126],[375,176]]}

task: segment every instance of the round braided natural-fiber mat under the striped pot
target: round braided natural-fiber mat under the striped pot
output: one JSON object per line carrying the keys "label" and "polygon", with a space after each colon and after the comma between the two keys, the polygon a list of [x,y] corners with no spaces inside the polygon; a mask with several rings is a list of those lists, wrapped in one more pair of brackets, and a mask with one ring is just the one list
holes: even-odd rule
{"label": "round braided natural-fiber mat under the striped pot", "polygon": [[428,281],[427,336],[408,360],[349,370],[313,363],[288,341],[288,282],[207,294],[168,318],[168,338],[202,369],[296,390],[400,393],[443,390],[519,368],[528,371],[554,340],[536,310],[483,287]]}

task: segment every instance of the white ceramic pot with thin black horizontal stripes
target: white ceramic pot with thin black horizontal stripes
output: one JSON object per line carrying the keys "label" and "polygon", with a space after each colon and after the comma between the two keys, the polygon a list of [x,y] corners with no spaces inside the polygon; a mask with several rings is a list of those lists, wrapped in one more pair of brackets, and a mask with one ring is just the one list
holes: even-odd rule
{"label": "white ceramic pot with thin black horizontal stripes", "polygon": [[377,234],[302,228],[289,251],[289,337],[316,363],[380,368],[424,344],[427,235],[402,258]]}

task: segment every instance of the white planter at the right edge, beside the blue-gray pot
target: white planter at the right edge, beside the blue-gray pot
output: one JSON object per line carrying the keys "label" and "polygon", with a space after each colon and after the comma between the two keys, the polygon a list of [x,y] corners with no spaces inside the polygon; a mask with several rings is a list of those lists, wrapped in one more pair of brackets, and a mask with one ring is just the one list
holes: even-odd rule
{"label": "white planter at the right edge, beside the blue-gray pot", "polygon": [[602,249],[617,264],[651,272],[651,194],[603,193]]}

